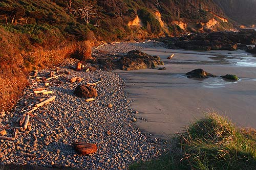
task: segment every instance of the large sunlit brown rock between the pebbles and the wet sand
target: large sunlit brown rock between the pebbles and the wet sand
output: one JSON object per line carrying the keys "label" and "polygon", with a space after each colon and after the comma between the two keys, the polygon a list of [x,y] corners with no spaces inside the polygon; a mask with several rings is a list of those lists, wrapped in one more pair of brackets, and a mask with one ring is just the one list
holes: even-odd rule
{"label": "large sunlit brown rock between the pebbles and the wet sand", "polygon": [[135,70],[144,68],[155,68],[157,65],[163,65],[158,56],[150,56],[141,51],[130,51],[119,60],[120,68],[123,70]]}

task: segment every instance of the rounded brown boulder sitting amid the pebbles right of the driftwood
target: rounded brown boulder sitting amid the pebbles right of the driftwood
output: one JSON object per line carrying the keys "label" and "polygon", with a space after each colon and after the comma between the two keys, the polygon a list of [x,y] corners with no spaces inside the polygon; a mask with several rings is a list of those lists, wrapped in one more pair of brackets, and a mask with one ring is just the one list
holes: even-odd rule
{"label": "rounded brown boulder sitting amid the pebbles right of the driftwood", "polygon": [[79,98],[96,98],[98,96],[97,90],[91,86],[79,84],[74,91]]}

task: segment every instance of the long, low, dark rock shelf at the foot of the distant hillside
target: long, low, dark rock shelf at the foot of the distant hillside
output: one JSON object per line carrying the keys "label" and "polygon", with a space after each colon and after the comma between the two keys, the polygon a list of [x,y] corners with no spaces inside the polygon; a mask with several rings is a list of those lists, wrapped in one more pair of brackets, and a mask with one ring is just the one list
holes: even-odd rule
{"label": "long, low, dark rock shelf at the foot of the distant hillside", "polygon": [[[256,42],[256,31],[244,29],[240,32],[212,32],[184,35],[177,38],[163,38],[169,48],[183,48],[185,50],[209,51],[228,50],[234,51],[238,48],[248,50],[246,45],[254,45]],[[238,45],[239,44],[239,45]]]}

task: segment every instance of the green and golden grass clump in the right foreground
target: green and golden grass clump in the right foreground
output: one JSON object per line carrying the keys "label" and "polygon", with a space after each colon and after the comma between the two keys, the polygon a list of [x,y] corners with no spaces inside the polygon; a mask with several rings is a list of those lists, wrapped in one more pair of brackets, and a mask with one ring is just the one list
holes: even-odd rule
{"label": "green and golden grass clump in the right foreground", "polygon": [[130,169],[256,169],[256,131],[211,113],[170,139],[170,150]]}

